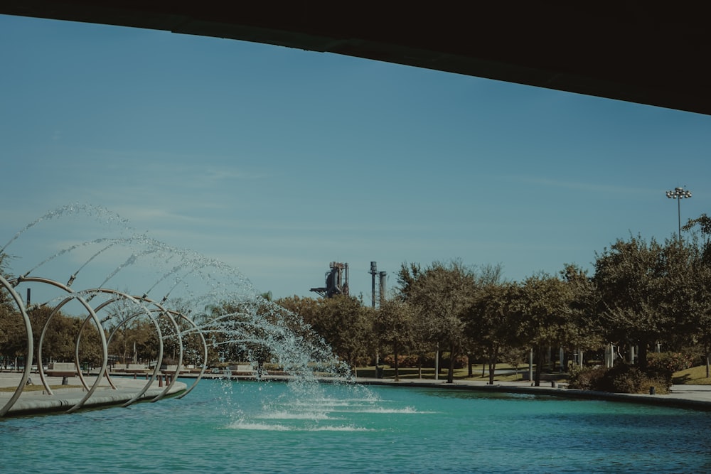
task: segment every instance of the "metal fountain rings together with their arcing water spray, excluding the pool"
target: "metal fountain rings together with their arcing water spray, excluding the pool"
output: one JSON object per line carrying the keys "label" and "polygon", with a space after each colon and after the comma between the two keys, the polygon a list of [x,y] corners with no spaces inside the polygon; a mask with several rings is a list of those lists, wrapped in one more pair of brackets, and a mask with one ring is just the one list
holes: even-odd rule
{"label": "metal fountain rings together with their arcing water spray, excluding the pool", "polygon": [[[250,354],[250,362],[257,366],[255,375],[262,375],[262,365],[265,362],[265,352],[276,355],[284,373],[289,376],[314,377],[314,370],[330,370],[338,365],[334,362],[326,345],[299,320],[298,316],[289,313],[271,301],[262,298],[250,282],[238,271],[215,259],[208,259],[196,252],[171,247],[169,244],[138,234],[129,227],[126,220],[113,212],[89,205],[67,205],[39,217],[23,227],[0,249],[0,255],[6,254],[9,248],[22,241],[26,232],[35,230],[48,221],[58,221],[65,218],[78,218],[77,227],[86,227],[86,221],[98,222],[101,232],[109,235],[93,236],[89,240],[71,242],[67,247],[55,251],[50,256],[31,266],[28,271],[18,271],[9,266],[10,274],[0,280],[2,291],[7,299],[14,302],[18,315],[23,318],[26,328],[25,371],[18,382],[14,396],[0,409],[0,417],[8,414],[23,392],[36,350],[38,375],[48,396],[54,394],[47,382],[43,361],[45,338],[50,323],[60,310],[78,303],[79,311],[85,313],[85,319],[75,337],[75,360],[73,370],[80,377],[85,395],[67,411],[81,409],[90,402],[102,379],[106,379],[112,389],[117,389],[107,371],[109,365],[108,347],[117,331],[136,318],[146,318],[154,326],[159,343],[155,355],[155,367],[146,384],[127,399],[123,406],[137,402],[144,397],[156,377],[161,377],[160,371],[164,360],[164,343],[172,340],[176,347],[177,361],[174,370],[166,377],[166,388],[152,401],[158,401],[171,392],[183,367],[183,354],[186,350],[186,340],[194,339],[200,347],[193,348],[200,355],[199,372],[191,387],[184,390],[180,397],[191,392],[208,368],[208,343],[214,348],[229,350],[237,348]],[[95,226],[96,227],[96,226]],[[84,230],[85,232],[85,230]],[[95,232],[95,229],[92,229]],[[33,249],[33,255],[38,254]],[[71,258],[69,258],[71,257]],[[75,271],[66,271],[70,264],[75,265]],[[63,262],[60,262],[62,261]],[[117,263],[119,262],[119,263]],[[7,262],[4,262],[7,264]],[[14,262],[10,262],[13,264]],[[106,275],[97,278],[98,271],[92,267],[100,266]],[[149,269],[147,271],[146,269]],[[131,274],[133,270],[133,273]],[[68,282],[63,284],[57,276],[36,276],[36,274],[63,272],[70,274]],[[94,285],[88,283],[86,274],[92,274]],[[147,291],[119,291],[110,288],[109,284],[120,276],[129,274],[121,281],[122,284],[143,284]],[[153,281],[145,278],[134,278],[133,274],[144,276],[154,275]],[[96,285],[99,281],[99,285]],[[85,289],[76,290],[81,283],[87,282]],[[18,289],[22,286],[41,285],[44,294],[43,303],[29,305],[23,301]],[[49,290],[48,290],[49,289]],[[140,288],[139,288],[140,289]],[[151,292],[164,290],[160,302],[149,298]],[[134,296],[140,294],[141,296]],[[29,292],[28,292],[29,299]],[[171,305],[176,305],[171,307]],[[35,335],[28,317],[28,310],[37,306],[52,308],[44,321],[38,340],[38,347],[33,346]],[[205,311],[208,308],[208,311]],[[98,313],[106,316],[100,318]],[[93,384],[88,384],[82,374],[80,365],[80,343],[82,333],[89,326],[95,327],[101,345],[101,363],[95,374]],[[110,332],[109,332],[110,328]],[[107,335],[108,334],[108,335]],[[165,371],[164,371],[165,372]]]}

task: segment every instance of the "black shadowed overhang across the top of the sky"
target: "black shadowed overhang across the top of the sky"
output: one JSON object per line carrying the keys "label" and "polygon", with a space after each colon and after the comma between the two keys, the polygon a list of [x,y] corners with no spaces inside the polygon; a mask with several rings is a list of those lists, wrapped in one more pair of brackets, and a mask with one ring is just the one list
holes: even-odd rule
{"label": "black shadowed overhang across the top of the sky", "polygon": [[327,51],[711,114],[703,2],[0,1],[0,14]]}

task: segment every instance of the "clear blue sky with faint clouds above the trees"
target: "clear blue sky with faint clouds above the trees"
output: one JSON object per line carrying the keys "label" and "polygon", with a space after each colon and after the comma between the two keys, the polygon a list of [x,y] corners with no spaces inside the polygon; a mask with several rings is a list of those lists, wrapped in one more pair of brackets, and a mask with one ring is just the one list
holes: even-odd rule
{"label": "clear blue sky with faint clouds above the trees", "polygon": [[[565,264],[592,271],[616,239],[674,237],[678,204],[683,223],[711,211],[702,114],[1,15],[0,65],[0,247],[11,241],[15,274],[135,233],[235,269],[274,298],[318,297],[309,290],[324,286],[328,264],[345,262],[351,294],[370,301],[370,262],[389,290],[405,263],[501,264],[516,281]],[[693,197],[666,198],[677,186]],[[67,206],[82,211],[31,225]],[[103,233],[85,230],[97,222]],[[88,247],[33,275],[65,279]],[[82,270],[85,287],[107,276],[98,261]],[[139,293],[151,278],[111,284]]]}

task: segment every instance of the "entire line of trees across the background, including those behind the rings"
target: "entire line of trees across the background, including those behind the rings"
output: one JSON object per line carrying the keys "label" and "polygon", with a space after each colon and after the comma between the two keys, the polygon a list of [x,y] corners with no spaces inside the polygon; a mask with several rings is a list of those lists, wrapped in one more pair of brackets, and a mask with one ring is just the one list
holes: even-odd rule
{"label": "entire line of trees across the background, including those behind the rings", "polygon": [[[271,294],[265,293],[248,308],[218,303],[201,316],[203,322],[226,324],[210,335],[208,364],[279,363],[276,348],[269,345],[285,344],[286,333],[279,330],[283,326],[310,344],[313,352],[327,343],[353,369],[372,365],[379,357],[390,360],[396,377],[402,360],[422,368],[431,367],[437,357],[436,362],[447,368],[448,382],[463,364],[469,365],[471,375],[477,361],[486,364],[493,383],[497,363],[517,364],[533,354],[538,385],[542,370],[552,362],[551,348],[598,355],[601,360],[610,345],[622,354],[634,348],[634,362],[642,372],[651,370],[653,351],[705,357],[708,376],[711,219],[701,215],[684,228],[696,227],[700,235],[688,239],[658,242],[634,235],[618,239],[595,255],[592,274],[565,264],[557,274],[539,272],[510,281],[501,265],[467,265],[459,259],[425,266],[405,262],[397,272],[395,290],[378,308],[365,306],[362,297],[343,295],[290,296],[272,304]],[[33,327],[38,325],[36,334],[49,311],[43,307],[29,311]],[[0,364],[23,353],[24,330],[15,313],[8,295],[1,293]],[[44,353],[55,360],[73,360],[80,323],[56,315]],[[228,326],[231,332],[225,332]],[[227,344],[235,340],[242,343]],[[100,359],[97,341],[97,334],[82,336],[82,357],[95,364]],[[136,320],[114,335],[109,352],[124,361],[151,360],[157,344],[151,324]],[[175,355],[170,344],[166,350]],[[190,351],[186,355],[185,363],[192,358],[199,362]]]}

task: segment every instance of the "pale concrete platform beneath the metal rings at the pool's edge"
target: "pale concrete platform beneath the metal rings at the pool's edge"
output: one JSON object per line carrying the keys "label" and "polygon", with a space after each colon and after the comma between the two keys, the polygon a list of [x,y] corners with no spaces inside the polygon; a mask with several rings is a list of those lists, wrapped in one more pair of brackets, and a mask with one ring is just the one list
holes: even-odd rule
{"label": "pale concrete platform beneath the metal rings at the pool's edge", "polygon": [[[68,377],[67,388],[54,388],[60,386],[63,382],[63,377],[45,377],[47,383],[52,387],[53,394],[47,394],[45,390],[26,390],[23,391],[17,401],[11,406],[5,416],[17,416],[23,414],[38,414],[46,412],[65,412],[73,409],[84,397],[87,391],[82,387],[79,377]],[[22,374],[16,372],[0,372],[0,388],[16,388],[22,379]],[[38,374],[30,376],[33,385],[42,386],[41,379]],[[96,408],[98,406],[120,405],[133,399],[146,386],[148,380],[133,379],[131,377],[111,377],[112,382],[116,386],[113,389],[107,379],[102,379],[102,382],[97,386],[95,392],[92,393],[82,408]],[[89,388],[96,381],[96,377],[85,376],[85,381]],[[167,385],[165,382],[153,382],[146,392],[139,397],[139,400],[149,400],[159,397]],[[173,387],[169,390],[166,396],[172,396],[183,392],[187,385],[183,382],[176,381]],[[14,390],[9,392],[0,392],[0,409],[14,395]]]}

